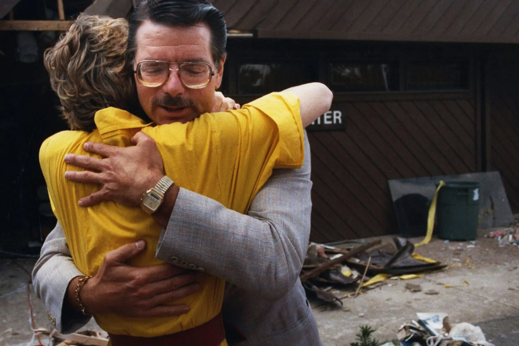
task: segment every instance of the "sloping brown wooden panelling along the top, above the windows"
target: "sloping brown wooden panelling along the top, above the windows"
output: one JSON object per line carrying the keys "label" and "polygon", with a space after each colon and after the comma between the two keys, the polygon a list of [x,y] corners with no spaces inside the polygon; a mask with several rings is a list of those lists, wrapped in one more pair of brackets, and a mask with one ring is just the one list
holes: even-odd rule
{"label": "sloping brown wooden panelling along the top, above the windows", "polygon": [[214,0],[261,38],[519,43],[517,0]]}

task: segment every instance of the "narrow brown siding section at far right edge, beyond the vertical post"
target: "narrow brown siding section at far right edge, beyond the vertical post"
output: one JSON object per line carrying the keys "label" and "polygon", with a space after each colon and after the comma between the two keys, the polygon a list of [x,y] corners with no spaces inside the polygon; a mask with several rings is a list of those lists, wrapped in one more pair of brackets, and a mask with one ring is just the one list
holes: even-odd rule
{"label": "narrow brown siding section at far right edge, beyond the vertical post", "polygon": [[519,213],[519,54],[495,54],[489,80],[489,169],[501,173],[513,213]]}

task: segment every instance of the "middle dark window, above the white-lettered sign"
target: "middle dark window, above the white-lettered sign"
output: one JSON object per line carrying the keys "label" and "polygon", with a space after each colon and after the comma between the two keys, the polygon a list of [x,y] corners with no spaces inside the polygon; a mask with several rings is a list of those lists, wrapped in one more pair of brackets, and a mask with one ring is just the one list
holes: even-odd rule
{"label": "middle dark window, above the white-lettered sign", "polygon": [[398,90],[397,64],[330,63],[329,74],[334,91]]}

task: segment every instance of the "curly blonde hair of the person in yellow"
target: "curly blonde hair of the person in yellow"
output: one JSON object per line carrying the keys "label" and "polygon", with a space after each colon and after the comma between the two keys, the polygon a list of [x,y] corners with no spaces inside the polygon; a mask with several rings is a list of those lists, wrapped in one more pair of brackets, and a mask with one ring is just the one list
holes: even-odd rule
{"label": "curly blonde hair of the person in yellow", "polygon": [[136,99],[133,72],[126,65],[127,43],[125,19],[80,15],[45,51],[52,90],[72,130],[92,131],[99,109],[127,109]]}

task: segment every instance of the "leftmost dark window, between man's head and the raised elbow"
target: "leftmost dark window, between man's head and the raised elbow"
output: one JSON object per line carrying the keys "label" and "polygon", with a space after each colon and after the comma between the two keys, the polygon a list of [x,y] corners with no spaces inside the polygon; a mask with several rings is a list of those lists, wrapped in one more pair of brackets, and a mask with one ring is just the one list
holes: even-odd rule
{"label": "leftmost dark window, between man's head and the raised elbow", "polygon": [[240,94],[266,94],[318,80],[317,63],[279,62],[241,64],[238,70]]}

